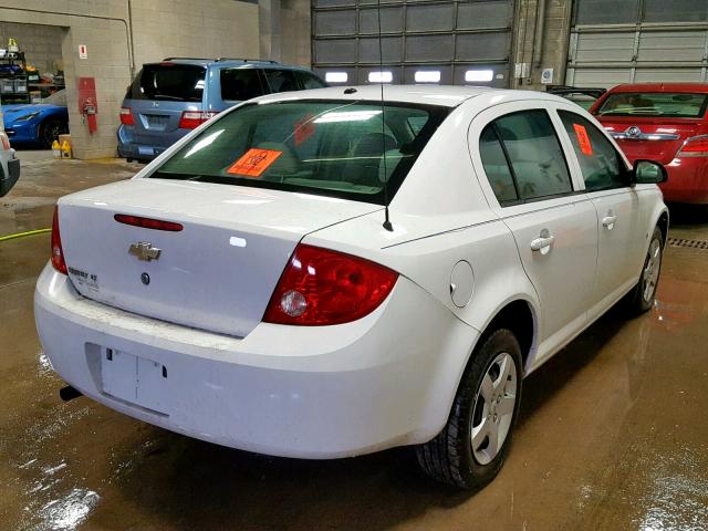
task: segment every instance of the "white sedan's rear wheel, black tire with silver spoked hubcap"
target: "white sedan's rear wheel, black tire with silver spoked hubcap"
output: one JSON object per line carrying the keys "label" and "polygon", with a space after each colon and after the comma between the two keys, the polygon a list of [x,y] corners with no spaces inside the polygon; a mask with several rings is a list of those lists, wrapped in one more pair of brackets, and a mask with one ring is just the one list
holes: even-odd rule
{"label": "white sedan's rear wheel, black tire with silver spoked hubcap", "polygon": [[[507,364],[512,364],[504,365],[509,367],[506,381],[502,377],[503,367],[498,363],[501,358]],[[494,379],[497,369],[499,374]],[[491,397],[498,399],[489,400],[482,396],[482,382],[487,382],[485,378],[488,374],[494,391]],[[516,382],[510,385],[509,378],[512,376]],[[511,446],[513,425],[521,402],[521,347],[514,334],[507,329],[500,329],[483,336],[465,369],[447,424],[433,440],[416,447],[418,465],[423,471],[437,481],[460,489],[480,489],[494,479]],[[489,389],[487,384],[486,388]],[[499,407],[501,412],[502,399],[506,413],[499,413],[497,416],[496,408]],[[494,425],[499,425],[499,428],[494,428]],[[507,427],[501,446],[496,445],[496,454],[490,448],[489,435],[485,449],[485,427],[488,426],[499,430],[498,438],[501,438],[502,427]],[[477,448],[472,447],[475,427],[478,429],[475,442]]]}

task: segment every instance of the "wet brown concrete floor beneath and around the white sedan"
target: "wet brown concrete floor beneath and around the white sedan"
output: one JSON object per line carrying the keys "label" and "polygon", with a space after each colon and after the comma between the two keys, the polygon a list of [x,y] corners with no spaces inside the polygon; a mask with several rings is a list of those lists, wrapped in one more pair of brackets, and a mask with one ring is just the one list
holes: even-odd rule
{"label": "wet brown concrete floor beneath and around the white sedan", "polygon": [[[0,236],[139,168],[32,155]],[[670,237],[708,240],[707,210],[671,214]],[[708,250],[667,247],[652,312],[610,312],[525,381],[509,459],[476,494],[419,477],[407,449],[270,458],[62,403],[32,315],[48,253],[49,235],[0,241],[2,530],[708,530]]]}

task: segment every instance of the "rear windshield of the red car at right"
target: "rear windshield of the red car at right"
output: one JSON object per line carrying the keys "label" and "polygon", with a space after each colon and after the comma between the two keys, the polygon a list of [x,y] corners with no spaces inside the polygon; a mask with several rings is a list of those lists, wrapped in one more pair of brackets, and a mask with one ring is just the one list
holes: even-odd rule
{"label": "rear windshield of the red car at right", "polygon": [[706,112],[706,94],[620,92],[611,94],[602,104],[601,116],[665,116],[697,118]]}

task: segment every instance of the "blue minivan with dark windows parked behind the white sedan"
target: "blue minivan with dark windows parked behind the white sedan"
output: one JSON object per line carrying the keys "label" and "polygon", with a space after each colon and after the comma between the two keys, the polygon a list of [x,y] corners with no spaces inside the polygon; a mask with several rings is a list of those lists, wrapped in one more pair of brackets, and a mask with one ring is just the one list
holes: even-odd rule
{"label": "blue minivan with dark windows parked behind the white sedan", "polygon": [[237,103],[323,86],[326,83],[309,70],[275,61],[167,58],[144,64],[123,100],[118,156],[152,160]]}

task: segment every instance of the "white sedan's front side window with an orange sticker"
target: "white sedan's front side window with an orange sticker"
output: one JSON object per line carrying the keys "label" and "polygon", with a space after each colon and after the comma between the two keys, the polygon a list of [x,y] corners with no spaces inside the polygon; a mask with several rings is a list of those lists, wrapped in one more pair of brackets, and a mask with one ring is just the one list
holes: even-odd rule
{"label": "white sedan's front side window with an orange sticker", "polygon": [[587,191],[627,186],[624,165],[610,140],[582,116],[569,111],[558,114],[571,138]]}

